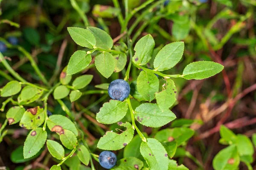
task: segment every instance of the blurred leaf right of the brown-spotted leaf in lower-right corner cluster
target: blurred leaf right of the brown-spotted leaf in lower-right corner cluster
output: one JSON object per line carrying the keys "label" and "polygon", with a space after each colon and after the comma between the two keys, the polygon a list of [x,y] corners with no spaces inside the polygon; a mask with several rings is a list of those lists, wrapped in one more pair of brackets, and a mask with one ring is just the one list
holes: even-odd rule
{"label": "blurred leaf right of the brown-spotted leaf in lower-right corner cluster", "polygon": [[254,153],[253,144],[250,141],[250,139],[245,135],[241,135],[241,134],[237,135],[236,147],[237,147],[239,156],[253,155]]}

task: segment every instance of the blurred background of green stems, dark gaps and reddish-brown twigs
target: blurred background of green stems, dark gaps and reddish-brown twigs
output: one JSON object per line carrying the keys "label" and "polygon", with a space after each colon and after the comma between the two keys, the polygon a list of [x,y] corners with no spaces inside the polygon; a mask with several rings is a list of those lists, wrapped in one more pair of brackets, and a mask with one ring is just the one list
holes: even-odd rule
{"label": "blurred background of green stems, dark gaps and reddish-brown twigs", "polygon": [[[131,36],[132,42],[151,34],[156,42],[153,56],[167,43],[185,42],[183,61],[171,70],[165,71],[165,74],[180,74],[188,63],[198,60],[219,62],[225,67],[222,74],[206,80],[174,79],[179,95],[172,111],[177,118],[195,120],[186,125],[196,130],[195,136],[187,143],[186,150],[204,165],[204,169],[211,170],[213,157],[224,148],[218,144],[220,125],[224,124],[235,133],[249,137],[256,133],[256,0],[151,1],[150,5],[132,17],[128,23],[130,29],[126,34]],[[120,13],[125,14],[124,2],[119,1],[121,8],[114,6],[113,2],[0,0],[0,41],[3,43],[3,49],[0,44],[0,50],[2,49],[1,52],[12,68],[24,79],[32,83],[42,83],[29,62],[29,55],[35,59],[49,84],[55,84],[59,81],[59,74],[73,52],[77,49],[87,50],[73,42],[67,32],[68,26],[96,26],[108,32],[112,38],[120,35],[122,28],[119,22],[124,22],[120,18]],[[129,9],[136,11],[136,7],[145,0],[128,2]],[[18,45],[22,48],[18,48],[10,37],[16,37]],[[153,68],[153,61],[154,57],[148,63],[148,68]],[[131,81],[137,79],[139,72],[137,68],[131,68]],[[97,72],[92,62],[90,69],[83,73],[94,76],[93,81],[83,91],[86,92],[96,89],[95,85],[109,83],[117,78],[122,79],[125,69],[105,79]],[[0,64],[0,87],[3,87],[7,80],[13,79],[6,74],[8,71]],[[161,81],[163,84],[164,81],[160,79],[160,84]],[[79,112],[81,108],[87,108],[84,110],[86,114],[79,112],[79,116],[88,134],[92,135],[87,139],[92,150],[96,150],[96,143],[99,137],[105,134],[106,129],[116,128],[112,125],[113,127],[104,126],[102,129],[95,122],[95,113],[99,111],[102,103],[108,100],[108,96],[104,94],[87,94],[72,104],[69,99],[64,100],[74,113]],[[57,102],[53,99],[49,101],[48,108],[53,114],[65,115]],[[138,102],[132,100],[132,104],[136,108]],[[26,107],[36,105],[37,103],[31,103]],[[1,123],[5,119],[5,113],[0,114]],[[129,117],[125,119],[129,120]],[[11,170],[23,169],[33,162],[30,160],[41,153],[24,160],[22,145],[28,132],[20,129],[18,125],[8,128],[7,136],[0,144],[0,164],[2,161]],[[150,136],[154,136],[159,130],[142,126],[140,128]],[[182,152],[180,154],[177,159],[179,163],[183,163],[191,170],[197,169],[197,164],[191,160],[191,156]],[[122,150],[118,156],[122,158]],[[50,167],[54,162],[51,159],[51,156],[47,155],[44,164]],[[75,160],[76,157],[73,159],[67,161],[67,167],[71,166],[68,164],[75,166],[79,161]],[[255,163],[252,166],[256,169]],[[246,165],[241,164],[240,169],[246,169]]]}

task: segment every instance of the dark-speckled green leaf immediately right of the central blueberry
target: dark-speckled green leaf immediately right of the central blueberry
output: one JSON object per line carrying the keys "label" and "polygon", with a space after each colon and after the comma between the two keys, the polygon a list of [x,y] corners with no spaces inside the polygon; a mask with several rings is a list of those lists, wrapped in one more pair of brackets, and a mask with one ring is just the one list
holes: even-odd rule
{"label": "dark-speckled green leaf immediately right of the central blueberry", "polygon": [[137,78],[137,88],[143,98],[151,102],[155,98],[154,94],[158,92],[159,80],[154,73],[141,71]]}

